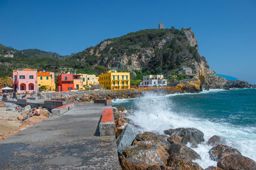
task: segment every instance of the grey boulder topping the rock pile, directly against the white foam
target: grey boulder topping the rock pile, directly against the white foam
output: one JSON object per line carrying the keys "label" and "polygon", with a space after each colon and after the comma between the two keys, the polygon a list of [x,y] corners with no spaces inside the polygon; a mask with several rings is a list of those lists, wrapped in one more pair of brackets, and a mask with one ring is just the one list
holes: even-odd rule
{"label": "grey boulder topping the rock pile, directly against the white foam", "polygon": [[192,148],[196,148],[198,144],[204,141],[204,133],[195,128],[169,129],[164,131],[164,133],[170,136],[180,136],[182,138],[181,143],[184,145],[191,143]]}

